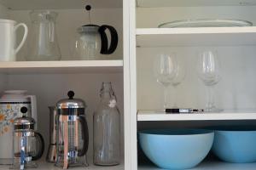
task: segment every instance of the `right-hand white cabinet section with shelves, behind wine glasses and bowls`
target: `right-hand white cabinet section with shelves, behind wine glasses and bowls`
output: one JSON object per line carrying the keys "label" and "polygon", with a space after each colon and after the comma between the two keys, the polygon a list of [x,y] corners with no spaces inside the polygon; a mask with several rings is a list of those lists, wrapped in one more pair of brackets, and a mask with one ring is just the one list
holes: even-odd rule
{"label": "right-hand white cabinet section with shelves, behind wine glasses and bowls", "polygon": [[[224,124],[256,123],[256,6],[253,0],[131,0],[131,147],[137,147],[137,132],[168,127],[207,127]],[[158,28],[174,20],[238,19],[249,20],[247,27]],[[162,110],[163,88],[154,77],[157,54],[177,54],[185,63],[187,74],[176,88],[177,105],[204,108],[206,88],[196,73],[199,52],[218,51],[222,79],[215,88],[220,113],[166,114]],[[174,88],[168,88],[172,104]],[[137,127],[136,127],[137,125]],[[160,168],[144,162],[141,150],[131,150],[131,169]],[[194,169],[254,169],[255,163],[232,164],[206,159]]]}

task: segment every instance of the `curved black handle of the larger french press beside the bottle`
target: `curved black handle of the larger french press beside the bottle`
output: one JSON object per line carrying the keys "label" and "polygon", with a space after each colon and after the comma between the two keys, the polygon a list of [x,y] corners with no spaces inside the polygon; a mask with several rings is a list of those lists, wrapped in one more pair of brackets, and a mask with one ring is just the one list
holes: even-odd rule
{"label": "curved black handle of the larger french press beside the bottle", "polygon": [[79,116],[79,121],[82,127],[82,139],[84,139],[83,149],[79,150],[78,156],[84,156],[89,147],[89,131],[88,125],[84,116]]}

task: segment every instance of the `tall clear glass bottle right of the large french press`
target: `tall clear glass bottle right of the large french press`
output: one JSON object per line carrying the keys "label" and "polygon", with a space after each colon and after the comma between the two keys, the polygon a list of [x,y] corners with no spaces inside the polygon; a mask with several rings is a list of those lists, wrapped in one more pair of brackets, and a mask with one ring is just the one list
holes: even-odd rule
{"label": "tall clear glass bottle right of the large french press", "polygon": [[111,82],[103,82],[101,102],[93,116],[94,163],[111,166],[119,164],[120,114]]}

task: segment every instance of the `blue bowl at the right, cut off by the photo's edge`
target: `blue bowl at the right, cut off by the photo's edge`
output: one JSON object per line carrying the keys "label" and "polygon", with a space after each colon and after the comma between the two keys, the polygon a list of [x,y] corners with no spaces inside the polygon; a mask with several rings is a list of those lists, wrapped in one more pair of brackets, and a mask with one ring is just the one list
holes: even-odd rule
{"label": "blue bowl at the right, cut off by the photo's edge", "polygon": [[212,151],[223,161],[256,161],[256,127],[217,127]]}

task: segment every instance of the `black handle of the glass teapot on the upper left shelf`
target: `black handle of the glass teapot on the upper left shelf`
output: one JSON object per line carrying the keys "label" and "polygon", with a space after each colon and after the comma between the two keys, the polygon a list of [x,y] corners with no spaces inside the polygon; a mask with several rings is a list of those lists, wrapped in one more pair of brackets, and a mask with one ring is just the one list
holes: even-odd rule
{"label": "black handle of the glass teapot on the upper left shelf", "polygon": [[[107,29],[109,30],[110,36],[111,36],[111,42],[110,42],[109,48],[108,48],[108,37],[105,32]],[[99,28],[99,33],[102,39],[101,54],[113,54],[119,42],[119,36],[117,31],[113,28],[113,26],[102,25]]]}

